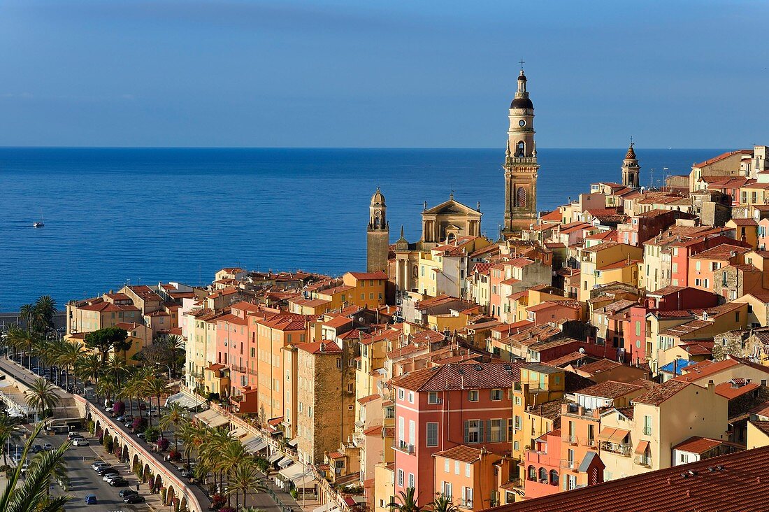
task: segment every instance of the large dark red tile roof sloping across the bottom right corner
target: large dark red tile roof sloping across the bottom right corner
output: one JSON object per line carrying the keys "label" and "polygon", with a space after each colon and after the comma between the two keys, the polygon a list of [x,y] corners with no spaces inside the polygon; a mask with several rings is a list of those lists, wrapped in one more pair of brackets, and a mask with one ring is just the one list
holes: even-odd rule
{"label": "large dark red tile roof sloping across the bottom right corner", "polygon": [[[767,510],[767,457],[769,447],[744,450],[487,510],[758,512]],[[708,469],[711,467],[715,470]]]}

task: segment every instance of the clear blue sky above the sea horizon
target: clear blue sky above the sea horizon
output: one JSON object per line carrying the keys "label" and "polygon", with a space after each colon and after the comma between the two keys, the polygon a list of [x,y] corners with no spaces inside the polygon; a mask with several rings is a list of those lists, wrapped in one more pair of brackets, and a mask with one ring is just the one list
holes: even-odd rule
{"label": "clear blue sky above the sea horizon", "polygon": [[769,2],[0,3],[0,146],[769,143]]}

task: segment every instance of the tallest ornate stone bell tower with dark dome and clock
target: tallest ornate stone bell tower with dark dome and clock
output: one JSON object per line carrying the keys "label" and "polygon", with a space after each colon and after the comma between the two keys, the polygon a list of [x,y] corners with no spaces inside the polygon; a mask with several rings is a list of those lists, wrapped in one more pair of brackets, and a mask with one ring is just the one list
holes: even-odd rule
{"label": "tallest ornate stone bell tower with dark dome and clock", "polygon": [[510,129],[504,165],[504,236],[537,222],[537,145],[534,142],[534,105],[521,67],[518,92],[510,104]]}

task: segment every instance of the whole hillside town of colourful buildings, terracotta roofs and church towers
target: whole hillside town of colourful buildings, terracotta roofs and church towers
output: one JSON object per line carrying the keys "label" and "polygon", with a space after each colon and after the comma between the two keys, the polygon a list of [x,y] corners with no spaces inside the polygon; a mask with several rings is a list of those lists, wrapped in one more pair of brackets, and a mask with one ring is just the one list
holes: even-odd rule
{"label": "whole hillside town of colourful buildings, terracotta roofs and church towers", "polygon": [[67,303],[65,340],[116,327],[140,364],[178,337],[168,400],[312,512],[763,510],[769,147],[644,187],[631,143],[617,176],[541,212],[527,83],[498,237],[451,192],[393,241],[377,189],[366,269],[127,285]]}

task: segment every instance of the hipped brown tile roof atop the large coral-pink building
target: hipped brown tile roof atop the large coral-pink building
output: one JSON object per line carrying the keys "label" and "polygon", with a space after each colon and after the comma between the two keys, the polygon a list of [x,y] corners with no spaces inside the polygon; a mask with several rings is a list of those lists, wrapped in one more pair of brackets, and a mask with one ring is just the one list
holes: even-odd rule
{"label": "hipped brown tile roof atop the large coral-pink building", "polygon": [[392,380],[414,391],[472,390],[513,387],[522,363],[461,363],[414,370]]}

